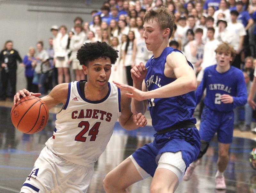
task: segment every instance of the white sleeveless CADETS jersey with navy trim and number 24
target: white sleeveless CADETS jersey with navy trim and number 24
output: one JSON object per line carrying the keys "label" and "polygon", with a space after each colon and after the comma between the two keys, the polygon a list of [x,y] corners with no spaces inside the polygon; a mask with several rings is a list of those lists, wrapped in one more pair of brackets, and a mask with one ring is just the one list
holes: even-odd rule
{"label": "white sleeveless CADETS jersey with navy trim and number 24", "polygon": [[79,82],[68,84],[68,98],[56,115],[56,128],[45,145],[65,160],[93,167],[104,152],[121,115],[120,90],[108,82],[108,94],[99,101],[84,98]]}

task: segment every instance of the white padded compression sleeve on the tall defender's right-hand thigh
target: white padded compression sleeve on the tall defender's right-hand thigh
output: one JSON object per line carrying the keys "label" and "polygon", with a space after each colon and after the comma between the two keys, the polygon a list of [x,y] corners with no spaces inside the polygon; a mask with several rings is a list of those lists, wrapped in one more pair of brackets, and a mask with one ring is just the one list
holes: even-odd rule
{"label": "white padded compression sleeve on the tall defender's right-hand thigh", "polygon": [[179,184],[185,174],[186,163],[182,159],[181,151],[179,152],[164,152],[162,153],[159,161],[158,168],[165,168],[172,171],[179,179]]}

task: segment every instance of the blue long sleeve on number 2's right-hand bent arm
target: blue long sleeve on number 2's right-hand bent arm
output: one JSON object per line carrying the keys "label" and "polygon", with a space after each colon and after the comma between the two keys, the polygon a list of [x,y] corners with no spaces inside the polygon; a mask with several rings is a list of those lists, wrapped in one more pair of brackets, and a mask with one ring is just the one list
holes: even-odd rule
{"label": "blue long sleeve on number 2's right-hand bent arm", "polygon": [[244,80],[244,75],[242,72],[239,73],[237,76],[237,95],[236,97],[233,97],[233,104],[235,107],[237,106],[243,106],[247,102],[247,90],[246,90],[246,84]]}

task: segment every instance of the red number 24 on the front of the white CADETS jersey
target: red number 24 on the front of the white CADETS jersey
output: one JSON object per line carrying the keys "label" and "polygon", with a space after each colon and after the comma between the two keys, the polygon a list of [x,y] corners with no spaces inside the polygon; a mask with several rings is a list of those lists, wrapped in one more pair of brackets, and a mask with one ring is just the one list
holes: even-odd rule
{"label": "red number 24 on the front of the white CADETS jersey", "polygon": [[[82,141],[82,142],[86,141],[86,137],[83,137],[83,135],[89,130],[90,124],[88,121],[79,122],[78,127],[83,128],[83,126],[84,126],[84,129],[76,135],[75,141]],[[99,127],[100,127],[100,122],[96,122],[90,129],[88,134],[88,136],[92,136],[90,141],[95,141],[99,133]]]}

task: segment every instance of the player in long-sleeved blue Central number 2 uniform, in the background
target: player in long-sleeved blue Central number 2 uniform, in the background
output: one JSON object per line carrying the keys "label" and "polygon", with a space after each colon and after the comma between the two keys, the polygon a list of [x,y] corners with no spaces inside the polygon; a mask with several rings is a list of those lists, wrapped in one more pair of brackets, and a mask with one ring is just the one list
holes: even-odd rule
{"label": "player in long-sleeved blue Central number 2 uniform, in the background", "polygon": [[[219,157],[217,173],[215,175],[216,189],[226,189],[223,172],[228,165],[228,149],[233,138],[233,109],[243,106],[247,100],[246,84],[243,72],[230,66],[235,57],[235,50],[226,42],[220,44],[216,50],[217,64],[204,70],[203,80],[196,89],[196,103],[198,104],[206,89],[204,109],[200,122],[201,149],[200,159],[207,151],[209,142],[217,133],[219,142]],[[196,163],[190,164],[184,180],[189,180]]]}

